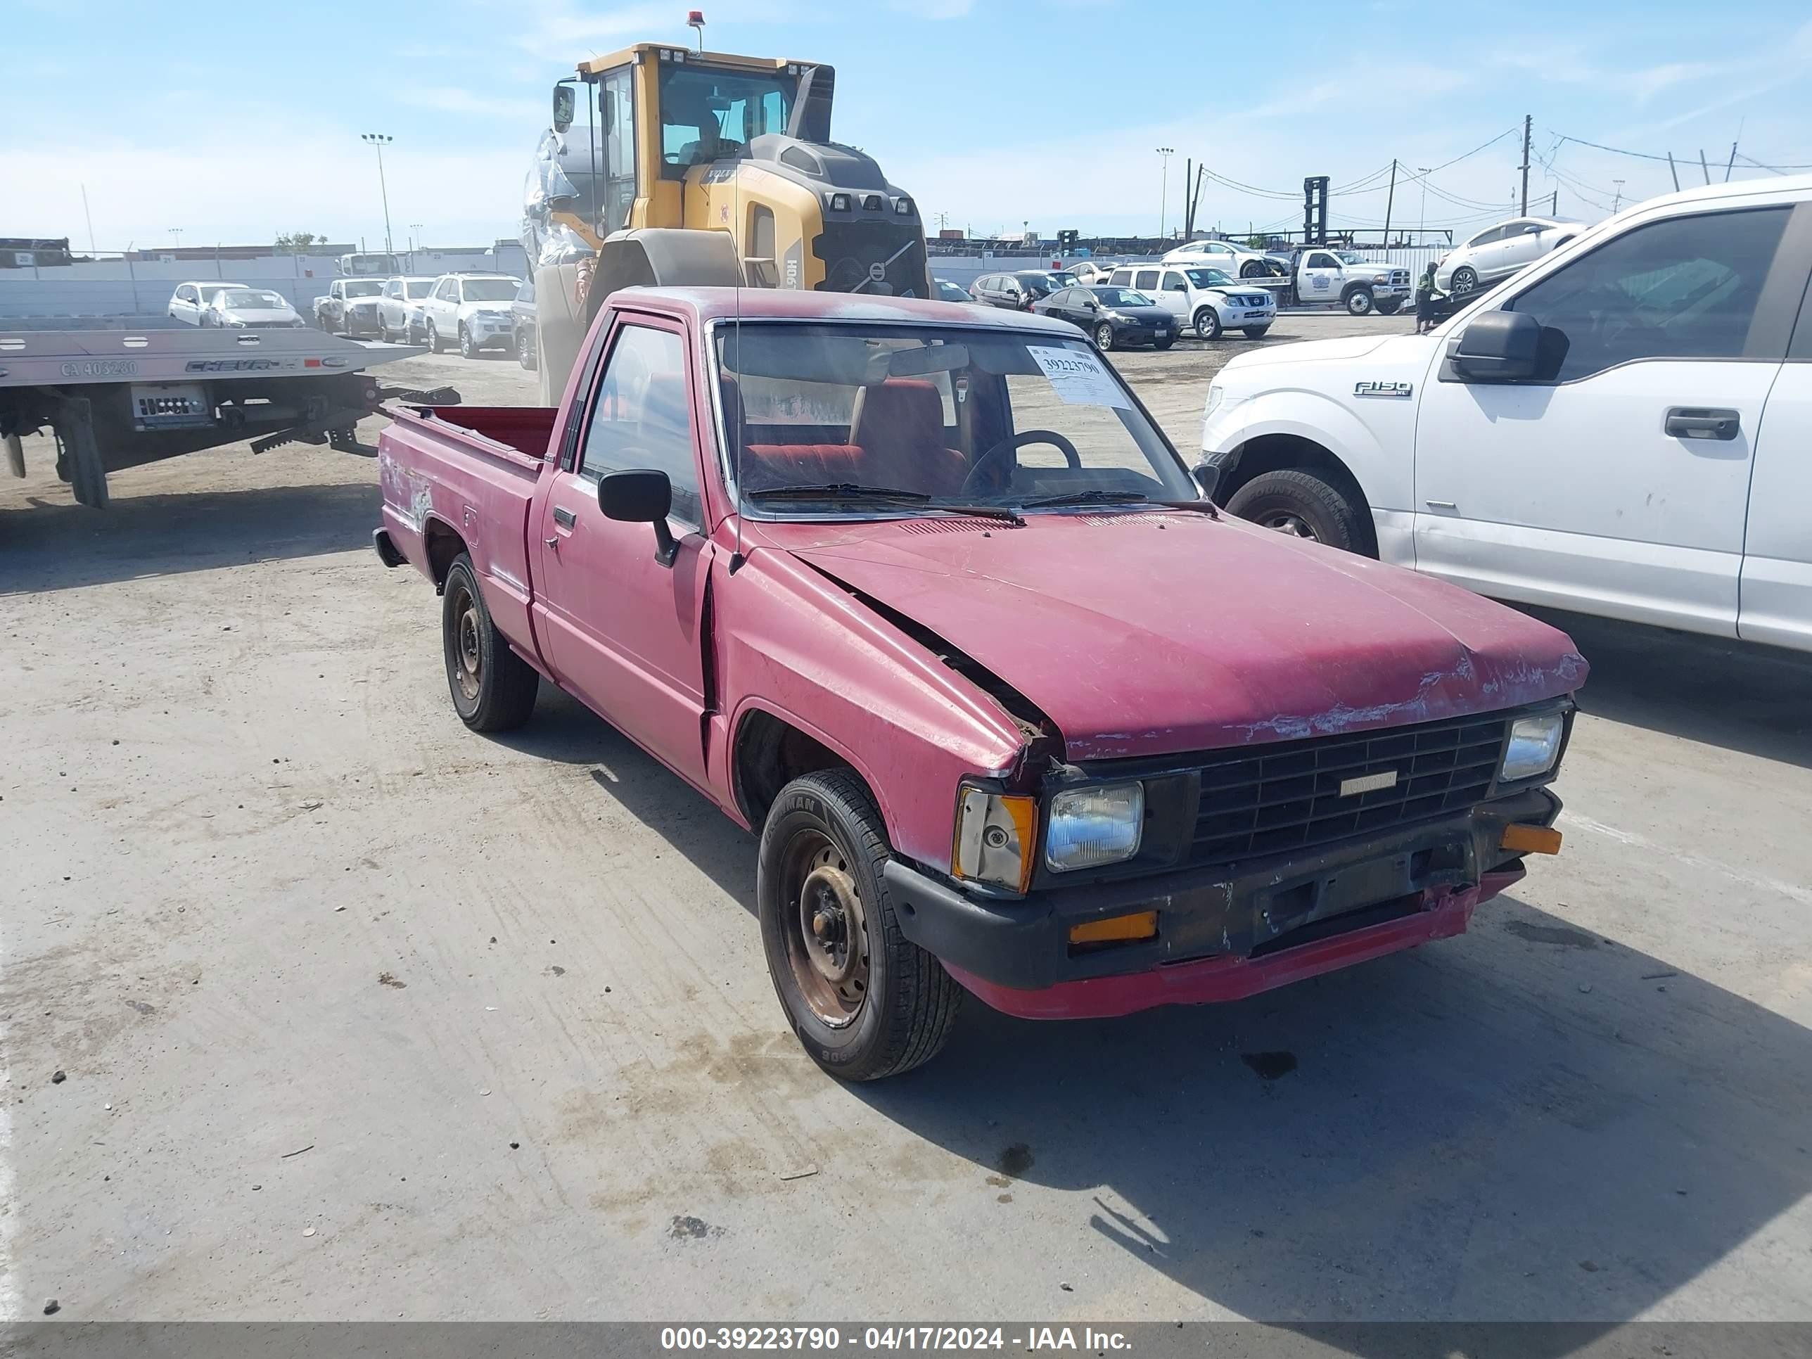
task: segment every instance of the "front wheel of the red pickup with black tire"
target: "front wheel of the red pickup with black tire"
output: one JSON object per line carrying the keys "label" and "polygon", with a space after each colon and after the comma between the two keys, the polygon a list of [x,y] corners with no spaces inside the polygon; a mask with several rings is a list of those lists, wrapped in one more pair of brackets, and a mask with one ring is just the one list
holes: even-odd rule
{"label": "front wheel of the red pickup with black tire", "polygon": [[[881,875],[888,855],[881,814],[852,770],[794,779],[761,828],[756,913],[774,993],[805,1051],[839,1080],[881,1080],[930,1062],[962,1007],[962,988],[901,933]],[[806,910],[835,917],[826,931],[814,919],[810,946]],[[844,962],[834,964],[839,942]],[[814,949],[850,975],[826,977]]]}

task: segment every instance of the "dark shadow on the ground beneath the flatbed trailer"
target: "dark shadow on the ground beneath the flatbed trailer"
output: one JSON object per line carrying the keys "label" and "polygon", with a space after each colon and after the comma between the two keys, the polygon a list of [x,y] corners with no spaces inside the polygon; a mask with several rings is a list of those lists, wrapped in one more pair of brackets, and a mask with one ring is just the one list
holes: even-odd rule
{"label": "dark shadow on the ground beneath the flatbed trailer", "polygon": [[0,509],[0,594],[103,585],[368,545],[375,482],[116,496]]}

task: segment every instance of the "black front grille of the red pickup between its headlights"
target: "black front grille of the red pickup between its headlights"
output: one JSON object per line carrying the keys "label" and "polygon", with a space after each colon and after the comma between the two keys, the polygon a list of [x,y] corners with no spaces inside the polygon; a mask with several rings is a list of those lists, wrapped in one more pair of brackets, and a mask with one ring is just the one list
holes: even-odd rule
{"label": "black front grille of the red pickup between its headlights", "polygon": [[[1192,864],[1314,850],[1484,801],[1504,756],[1508,718],[1460,718],[1354,736],[1317,736],[1201,766]],[[1395,774],[1388,788],[1341,795],[1341,783]]]}

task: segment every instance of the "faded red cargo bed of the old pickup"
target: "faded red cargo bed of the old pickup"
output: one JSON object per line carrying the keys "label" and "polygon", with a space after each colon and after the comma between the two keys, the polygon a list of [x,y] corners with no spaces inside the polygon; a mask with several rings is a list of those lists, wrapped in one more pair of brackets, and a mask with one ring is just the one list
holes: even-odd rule
{"label": "faded red cargo bed of the old pickup", "polygon": [[529,504],[551,466],[553,406],[391,406],[377,440],[384,529],[440,583],[464,540],[504,636],[536,667]]}

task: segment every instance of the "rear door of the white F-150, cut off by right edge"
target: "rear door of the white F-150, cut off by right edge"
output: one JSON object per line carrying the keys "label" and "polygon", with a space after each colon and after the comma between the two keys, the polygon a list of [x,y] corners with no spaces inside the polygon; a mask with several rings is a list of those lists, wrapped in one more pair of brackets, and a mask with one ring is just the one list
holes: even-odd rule
{"label": "rear door of the white F-150, cut off by right edge", "polygon": [[[1794,232],[1812,237],[1812,212]],[[1805,239],[1801,237],[1801,239]],[[1783,254],[1787,254],[1783,250]],[[1787,281],[1788,288],[1792,279]],[[1787,364],[1769,390],[1749,482],[1749,531],[1738,589],[1736,634],[1745,641],[1812,651],[1812,297],[1801,303]]]}

